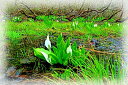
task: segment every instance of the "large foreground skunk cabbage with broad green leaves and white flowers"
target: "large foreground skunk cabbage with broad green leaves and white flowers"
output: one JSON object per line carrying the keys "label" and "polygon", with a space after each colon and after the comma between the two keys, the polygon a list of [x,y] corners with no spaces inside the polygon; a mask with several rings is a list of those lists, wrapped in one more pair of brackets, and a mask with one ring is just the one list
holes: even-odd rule
{"label": "large foreground skunk cabbage with broad green leaves and white flowers", "polygon": [[47,39],[45,40],[45,46],[48,48],[48,50],[45,50],[44,48],[34,48],[34,55],[47,61],[51,65],[68,65],[69,58],[72,56],[70,39],[67,39],[65,42],[61,34],[58,36],[56,46],[51,46],[48,35]]}

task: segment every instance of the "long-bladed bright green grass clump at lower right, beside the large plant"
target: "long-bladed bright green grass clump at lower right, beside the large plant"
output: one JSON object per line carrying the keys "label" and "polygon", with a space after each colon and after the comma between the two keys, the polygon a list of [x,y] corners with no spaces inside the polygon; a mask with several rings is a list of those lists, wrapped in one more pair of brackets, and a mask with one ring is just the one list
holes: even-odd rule
{"label": "long-bladed bright green grass clump at lower right, beside the large plant", "polygon": [[123,70],[121,69],[121,61],[119,58],[115,60],[117,61],[113,62],[112,58],[109,58],[108,60],[103,58],[97,59],[96,56],[89,53],[88,55],[85,54],[83,58],[73,57],[72,63],[76,66],[65,69],[63,73],[61,71],[55,71],[53,77],[63,80],[73,79],[76,81],[104,81],[104,79],[107,81],[120,80],[123,74]]}

